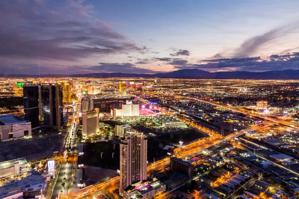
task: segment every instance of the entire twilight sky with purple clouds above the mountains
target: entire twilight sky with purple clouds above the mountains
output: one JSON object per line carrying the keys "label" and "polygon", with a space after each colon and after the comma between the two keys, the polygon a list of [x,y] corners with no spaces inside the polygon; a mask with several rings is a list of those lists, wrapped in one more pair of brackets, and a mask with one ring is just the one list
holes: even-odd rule
{"label": "entire twilight sky with purple clouds above the mountains", "polygon": [[0,0],[0,73],[299,70],[298,0]]}

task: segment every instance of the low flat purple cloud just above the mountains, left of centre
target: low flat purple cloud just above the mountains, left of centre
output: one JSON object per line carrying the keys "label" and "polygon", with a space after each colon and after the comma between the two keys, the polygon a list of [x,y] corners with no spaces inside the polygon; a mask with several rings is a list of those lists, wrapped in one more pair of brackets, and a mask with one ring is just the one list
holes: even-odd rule
{"label": "low flat purple cloud just above the mountains, left of centre", "polygon": [[99,66],[92,66],[88,69],[105,72],[120,72],[120,73],[157,73],[150,69],[138,68],[131,63],[99,63]]}

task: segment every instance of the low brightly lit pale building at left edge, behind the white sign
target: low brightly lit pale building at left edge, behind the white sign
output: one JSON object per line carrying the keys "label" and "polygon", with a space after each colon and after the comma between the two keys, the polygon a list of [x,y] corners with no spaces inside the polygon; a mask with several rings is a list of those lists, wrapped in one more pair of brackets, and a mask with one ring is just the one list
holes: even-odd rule
{"label": "low brightly lit pale building at left edge, behind the white sign", "polygon": [[0,163],[0,179],[17,176],[31,170],[29,163],[24,158],[9,160]]}

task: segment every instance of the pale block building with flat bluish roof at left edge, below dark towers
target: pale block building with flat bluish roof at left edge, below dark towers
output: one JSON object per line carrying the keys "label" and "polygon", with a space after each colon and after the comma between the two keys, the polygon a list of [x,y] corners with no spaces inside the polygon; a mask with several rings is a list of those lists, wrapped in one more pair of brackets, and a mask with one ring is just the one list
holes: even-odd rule
{"label": "pale block building with flat bluish roof at left edge, below dark towers", "polygon": [[31,135],[31,122],[14,114],[0,115],[0,141],[21,139]]}

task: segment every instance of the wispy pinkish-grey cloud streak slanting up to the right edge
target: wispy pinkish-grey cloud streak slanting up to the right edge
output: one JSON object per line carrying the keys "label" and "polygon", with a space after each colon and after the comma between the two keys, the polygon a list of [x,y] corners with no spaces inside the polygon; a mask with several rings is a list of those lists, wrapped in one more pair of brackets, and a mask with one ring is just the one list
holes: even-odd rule
{"label": "wispy pinkish-grey cloud streak slanting up to the right edge", "polygon": [[285,36],[298,29],[299,21],[275,28],[262,35],[257,35],[245,40],[239,48],[236,49],[234,57],[249,57],[254,54],[261,46],[273,41],[279,37]]}

